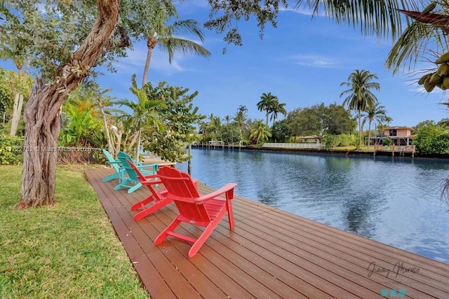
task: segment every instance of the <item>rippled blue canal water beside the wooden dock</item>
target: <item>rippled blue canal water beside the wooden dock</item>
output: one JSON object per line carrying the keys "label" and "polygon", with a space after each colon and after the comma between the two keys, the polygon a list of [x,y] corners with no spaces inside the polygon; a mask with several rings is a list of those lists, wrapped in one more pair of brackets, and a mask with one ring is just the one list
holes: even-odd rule
{"label": "rippled blue canal water beside the wooden dock", "polygon": [[238,183],[250,200],[449,263],[448,160],[193,148],[192,177]]}

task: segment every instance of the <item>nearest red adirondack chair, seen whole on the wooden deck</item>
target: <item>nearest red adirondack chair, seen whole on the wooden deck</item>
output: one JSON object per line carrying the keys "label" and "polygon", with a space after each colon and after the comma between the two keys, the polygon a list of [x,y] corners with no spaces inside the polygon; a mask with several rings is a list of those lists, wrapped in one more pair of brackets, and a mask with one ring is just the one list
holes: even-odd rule
{"label": "nearest red adirondack chair, seen whole on the wooden deck", "polygon": [[[231,230],[234,228],[231,200],[234,197],[236,183],[227,183],[213,193],[200,195],[194,181],[185,172],[180,172],[173,167],[161,167],[158,169],[157,175],[163,186],[166,187],[165,196],[175,202],[180,214],[156,237],[154,244],[161,244],[169,235],[192,242],[193,245],[189,250],[189,258],[192,258],[226,213],[229,218],[229,228]],[[220,197],[220,195],[225,195],[225,197]],[[198,238],[174,232],[177,225],[182,222],[203,226],[205,229]]]}

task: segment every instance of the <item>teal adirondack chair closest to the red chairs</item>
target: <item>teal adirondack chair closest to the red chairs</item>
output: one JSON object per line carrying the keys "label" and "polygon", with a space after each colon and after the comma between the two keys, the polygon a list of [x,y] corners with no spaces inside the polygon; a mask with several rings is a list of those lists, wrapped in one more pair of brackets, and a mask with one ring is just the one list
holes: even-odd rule
{"label": "teal adirondack chair closest to the red chairs", "polygon": [[[125,169],[126,174],[128,174],[128,177],[123,177],[123,181],[121,181],[119,185],[115,186],[114,190],[119,190],[121,188],[128,188],[128,193],[133,193],[135,190],[138,190],[138,188],[142,187],[142,183],[140,183],[139,181],[138,174],[136,174],[135,170],[130,166],[130,164],[126,160],[129,159],[132,161],[132,159],[130,155],[127,155],[122,151],[117,154],[117,158],[119,158],[123,169]],[[136,166],[144,176],[156,174],[158,168],[157,163],[147,165],[136,165]]]}

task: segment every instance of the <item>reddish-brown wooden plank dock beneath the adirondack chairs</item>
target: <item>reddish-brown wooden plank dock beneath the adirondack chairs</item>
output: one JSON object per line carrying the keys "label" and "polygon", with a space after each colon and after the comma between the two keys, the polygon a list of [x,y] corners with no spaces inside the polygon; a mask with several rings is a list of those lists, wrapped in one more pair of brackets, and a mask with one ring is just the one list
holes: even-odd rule
{"label": "reddish-brown wooden plank dock beneath the adirondack chairs", "polygon": [[116,181],[101,181],[110,173],[88,169],[86,177],[152,298],[449,298],[448,264],[239,196],[234,230],[225,217],[189,259],[187,242],[169,237],[154,245],[175,205],[134,221],[130,206],[149,190],[114,191]]}

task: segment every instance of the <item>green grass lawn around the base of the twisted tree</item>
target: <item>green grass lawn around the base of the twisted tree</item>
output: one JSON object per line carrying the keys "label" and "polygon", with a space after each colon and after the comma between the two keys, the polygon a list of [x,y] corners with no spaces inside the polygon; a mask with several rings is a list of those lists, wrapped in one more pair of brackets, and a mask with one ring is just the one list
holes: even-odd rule
{"label": "green grass lawn around the base of the twisted tree", "polygon": [[0,166],[0,298],[149,298],[81,167],[58,167],[52,207],[15,209],[21,166]]}

